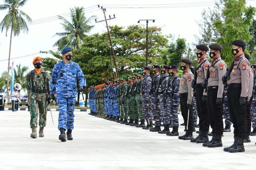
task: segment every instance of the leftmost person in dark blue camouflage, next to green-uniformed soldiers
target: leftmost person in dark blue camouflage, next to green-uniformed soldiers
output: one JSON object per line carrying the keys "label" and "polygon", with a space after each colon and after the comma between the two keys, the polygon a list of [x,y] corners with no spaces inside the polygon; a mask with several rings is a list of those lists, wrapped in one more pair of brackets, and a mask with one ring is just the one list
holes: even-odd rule
{"label": "leftmost person in dark blue camouflage, next to green-uniformed soldiers", "polygon": [[143,127],[143,129],[151,129],[153,128],[153,115],[151,111],[151,97],[150,90],[152,84],[152,78],[149,75],[150,68],[143,67],[143,75],[144,79],[142,80],[141,93],[142,93],[142,109],[144,113],[144,117],[147,122],[147,126]]}

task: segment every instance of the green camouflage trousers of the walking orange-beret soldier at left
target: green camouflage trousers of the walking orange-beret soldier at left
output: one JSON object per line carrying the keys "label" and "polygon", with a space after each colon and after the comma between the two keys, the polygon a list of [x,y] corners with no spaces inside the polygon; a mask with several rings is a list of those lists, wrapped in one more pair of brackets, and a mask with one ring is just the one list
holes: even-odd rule
{"label": "green camouflage trousers of the walking orange-beret soldier at left", "polygon": [[39,112],[39,127],[45,127],[47,115],[47,101],[46,96],[43,96],[41,101],[36,100],[35,96],[29,95],[30,106],[30,127],[37,127],[38,112]]}

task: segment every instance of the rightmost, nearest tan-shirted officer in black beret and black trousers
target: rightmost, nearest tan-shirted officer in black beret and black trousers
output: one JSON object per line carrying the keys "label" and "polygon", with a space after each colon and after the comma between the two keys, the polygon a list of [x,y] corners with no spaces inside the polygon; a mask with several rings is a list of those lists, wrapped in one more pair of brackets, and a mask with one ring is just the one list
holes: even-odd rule
{"label": "rightmost, nearest tan-shirted officer in black beret and black trousers", "polygon": [[227,79],[228,104],[231,121],[234,126],[234,143],[224,151],[230,153],[245,152],[243,142],[247,137],[246,101],[249,90],[250,64],[245,58],[246,43],[241,40],[232,42],[234,66]]}

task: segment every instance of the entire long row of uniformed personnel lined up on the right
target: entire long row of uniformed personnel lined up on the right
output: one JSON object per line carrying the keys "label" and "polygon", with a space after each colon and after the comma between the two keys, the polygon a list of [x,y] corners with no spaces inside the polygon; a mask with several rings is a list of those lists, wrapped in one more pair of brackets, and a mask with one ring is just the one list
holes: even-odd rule
{"label": "entire long row of uniformed personnel lined up on the right", "polygon": [[[179,136],[179,139],[215,148],[223,146],[223,110],[226,107],[223,106],[223,101],[226,95],[230,119],[234,125],[234,143],[224,148],[224,151],[244,152],[243,142],[250,140],[251,109],[255,115],[253,87],[256,74],[256,66],[252,65],[250,68],[249,58],[243,53],[245,47],[246,43],[241,40],[232,42],[232,54],[235,58],[229,69],[220,57],[222,45],[209,45],[209,55],[212,58],[210,63],[206,57],[209,48],[200,44],[196,45],[199,63],[194,74],[190,70],[191,60],[182,59],[181,78],[176,65],[153,65],[153,77],[149,75],[150,68],[144,67],[143,71],[134,73],[131,77],[122,76],[116,82],[108,81],[96,87],[96,98],[90,97],[91,112],[102,113],[104,107],[106,119],[166,133],[168,136],[179,136],[180,105],[185,135]],[[199,116],[199,135],[196,138],[193,137],[193,98]],[[94,99],[99,99],[96,101],[96,109],[92,104]],[[251,108],[252,102],[254,103]],[[138,122],[139,119],[141,124]],[[255,125],[255,118],[252,120]],[[163,130],[160,128],[161,123],[164,124]],[[208,139],[210,126],[213,129],[211,140]],[[169,130],[170,127],[173,128],[172,131]]]}

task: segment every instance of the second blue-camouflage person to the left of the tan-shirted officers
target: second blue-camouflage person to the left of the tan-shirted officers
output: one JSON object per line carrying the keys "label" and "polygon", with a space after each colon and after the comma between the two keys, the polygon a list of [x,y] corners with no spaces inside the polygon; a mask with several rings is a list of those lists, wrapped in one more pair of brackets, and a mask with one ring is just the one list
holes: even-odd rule
{"label": "second blue-camouflage person to the left of the tan-shirted officers", "polygon": [[[167,65],[161,66],[161,78],[159,81],[159,86],[157,88],[157,98],[159,99],[159,102],[160,102],[160,114],[161,114],[161,117],[163,118],[166,115],[168,115],[168,106],[167,106],[167,100],[166,100],[166,94],[165,94],[169,84],[168,69],[169,69],[169,66]],[[158,130],[158,133],[169,132],[170,124],[164,124],[164,125],[165,125],[164,130],[161,131],[160,125],[158,124],[157,126],[156,124],[156,126],[152,129],[152,131]]]}

